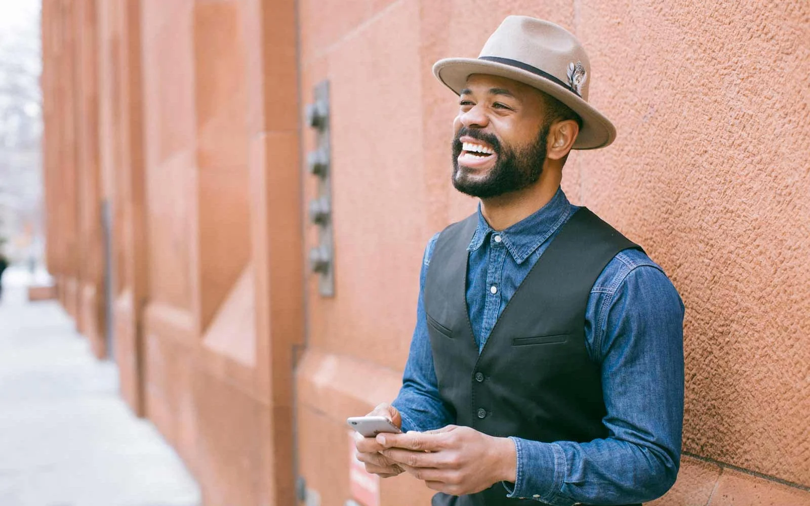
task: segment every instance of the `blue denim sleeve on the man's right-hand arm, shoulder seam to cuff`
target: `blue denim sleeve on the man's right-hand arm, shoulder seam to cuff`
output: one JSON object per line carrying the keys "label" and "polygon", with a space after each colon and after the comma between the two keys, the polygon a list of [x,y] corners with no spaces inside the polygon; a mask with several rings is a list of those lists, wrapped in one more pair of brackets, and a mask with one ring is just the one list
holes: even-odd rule
{"label": "blue denim sleeve on the man's right-hand arm, shoulder seam to cuff", "polygon": [[[642,253],[643,254],[643,253]],[[675,483],[684,412],[684,304],[657,266],[625,266],[615,285],[591,294],[590,330],[601,363],[608,429],[586,443],[513,438],[509,497],[552,506],[633,504]]]}

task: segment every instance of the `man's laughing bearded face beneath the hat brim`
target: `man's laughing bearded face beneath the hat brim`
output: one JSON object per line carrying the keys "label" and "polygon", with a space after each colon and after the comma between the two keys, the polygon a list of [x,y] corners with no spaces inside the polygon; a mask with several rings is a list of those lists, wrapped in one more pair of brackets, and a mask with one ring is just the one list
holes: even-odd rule
{"label": "man's laughing bearded face beneath the hat brim", "polygon": [[458,105],[453,140],[458,191],[492,198],[539,179],[549,130],[540,91],[512,79],[473,74]]}

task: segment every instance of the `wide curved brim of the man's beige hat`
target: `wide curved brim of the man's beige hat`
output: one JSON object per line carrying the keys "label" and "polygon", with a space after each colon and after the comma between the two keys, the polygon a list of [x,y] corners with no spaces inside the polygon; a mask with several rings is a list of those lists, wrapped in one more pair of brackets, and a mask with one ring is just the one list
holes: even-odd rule
{"label": "wide curved brim of the man's beige hat", "polygon": [[565,87],[561,87],[559,84],[537,74],[532,74],[528,70],[522,70],[505,63],[488,62],[473,58],[445,58],[433,65],[433,75],[441,83],[444,83],[446,87],[455,91],[456,95],[466,87],[467,78],[471,74],[489,74],[514,79],[519,83],[528,84],[539,91],[548,93],[548,95],[567,105],[582,118],[582,128],[579,130],[572,149],[605,147],[616,138],[616,127],[602,113],[591,107],[573,91],[567,90]]}

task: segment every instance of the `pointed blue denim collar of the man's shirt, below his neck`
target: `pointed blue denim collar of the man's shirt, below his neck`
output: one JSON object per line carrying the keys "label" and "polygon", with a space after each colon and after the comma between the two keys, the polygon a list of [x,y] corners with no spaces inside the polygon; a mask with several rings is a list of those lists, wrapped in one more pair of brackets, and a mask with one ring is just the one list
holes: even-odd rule
{"label": "pointed blue denim collar of the man's shirt, below his neck", "polygon": [[[515,223],[511,227],[505,228],[498,235],[506,246],[506,249],[518,264],[523,263],[535,249],[539,248],[554,232],[559,228],[571,213],[571,205],[562,189],[557,189],[554,197],[548,203],[536,210],[534,214]],[[489,235],[496,232],[489,226],[484,215],[481,213],[481,205],[478,205],[478,226],[472,235],[468,251],[479,249],[484,240],[488,240]]]}

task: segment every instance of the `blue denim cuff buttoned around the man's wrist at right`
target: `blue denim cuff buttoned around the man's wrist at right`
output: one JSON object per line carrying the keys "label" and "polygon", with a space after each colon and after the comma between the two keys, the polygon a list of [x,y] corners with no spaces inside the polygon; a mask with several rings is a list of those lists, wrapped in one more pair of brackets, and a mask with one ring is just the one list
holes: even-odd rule
{"label": "blue denim cuff buttoned around the man's wrist at right", "polygon": [[518,455],[514,487],[502,482],[509,499],[534,499],[552,506],[570,506],[573,500],[559,492],[565,478],[565,453],[559,444],[510,437]]}

